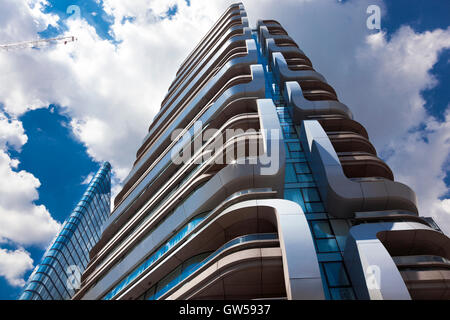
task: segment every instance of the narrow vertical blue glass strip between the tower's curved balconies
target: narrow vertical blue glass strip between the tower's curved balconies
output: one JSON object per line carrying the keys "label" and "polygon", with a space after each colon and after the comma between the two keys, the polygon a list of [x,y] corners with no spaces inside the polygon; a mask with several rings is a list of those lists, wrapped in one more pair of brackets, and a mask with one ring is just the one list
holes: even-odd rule
{"label": "narrow vertical blue glass strip between the tower's curved balconies", "polygon": [[[326,299],[355,299],[343,262],[345,238],[338,244],[337,236],[331,226],[330,216],[325,211],[308,159],[303,152],[300,127],[292,119],[291,107],[287,106],[274,81],[267,58],[261,54],[256,33],[254,39],[258,47],[258,62],[264,66],[266,97],[273,100],[283,131],[286,150],[284,198],[298,203],[309,223],[320,265],[322,284]],[[348,227],[345,219],[333,219]],[[341,228],[342,229],[342,228]],[[341,230],[339,229],[339,231]],[[347,231],[348,228],[345,230]],[[344,234],[347,234],[345,232]]]}

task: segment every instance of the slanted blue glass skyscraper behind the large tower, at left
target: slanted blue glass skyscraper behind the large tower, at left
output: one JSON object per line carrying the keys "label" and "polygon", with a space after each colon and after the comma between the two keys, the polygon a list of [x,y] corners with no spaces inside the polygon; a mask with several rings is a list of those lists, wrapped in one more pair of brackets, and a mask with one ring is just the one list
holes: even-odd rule
{"label": "slanted blue glass skyscraper behind the large tower, at left", "polygon": [[31,273],[19,299],[71,299],[110,212],[111,165],[105,162]]}

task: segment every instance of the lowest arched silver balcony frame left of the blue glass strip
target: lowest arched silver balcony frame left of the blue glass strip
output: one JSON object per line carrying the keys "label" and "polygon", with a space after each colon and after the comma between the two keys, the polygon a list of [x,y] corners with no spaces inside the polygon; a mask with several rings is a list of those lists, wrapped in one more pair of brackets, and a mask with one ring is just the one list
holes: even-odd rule
{"label": "lowest arched silver balcony frame left of the blue glass strip", "polygon": [[[282,199],[248,200],[225,210],[218,210],[204,219],[193,237],[165,254],[166,258],[140,279],[124,288],[117,299],[130,299],[142,294],[148,283],[156,283],[166,270],[174,268],[201,252],[215,250],[227,237],[251,232],[273,232],[277,226],[283,261],[283,275],[288,299],[323,299],[323,289],[314,244],[301,207]],[[264,223],[264,221],[267,221]],[[272,226],[272,227],[270,227]],[[302,236],[298,237],[298,233]],[[234,234],[234,236],[233,236]],[[314,261],[316,263],[314,263]]]}

